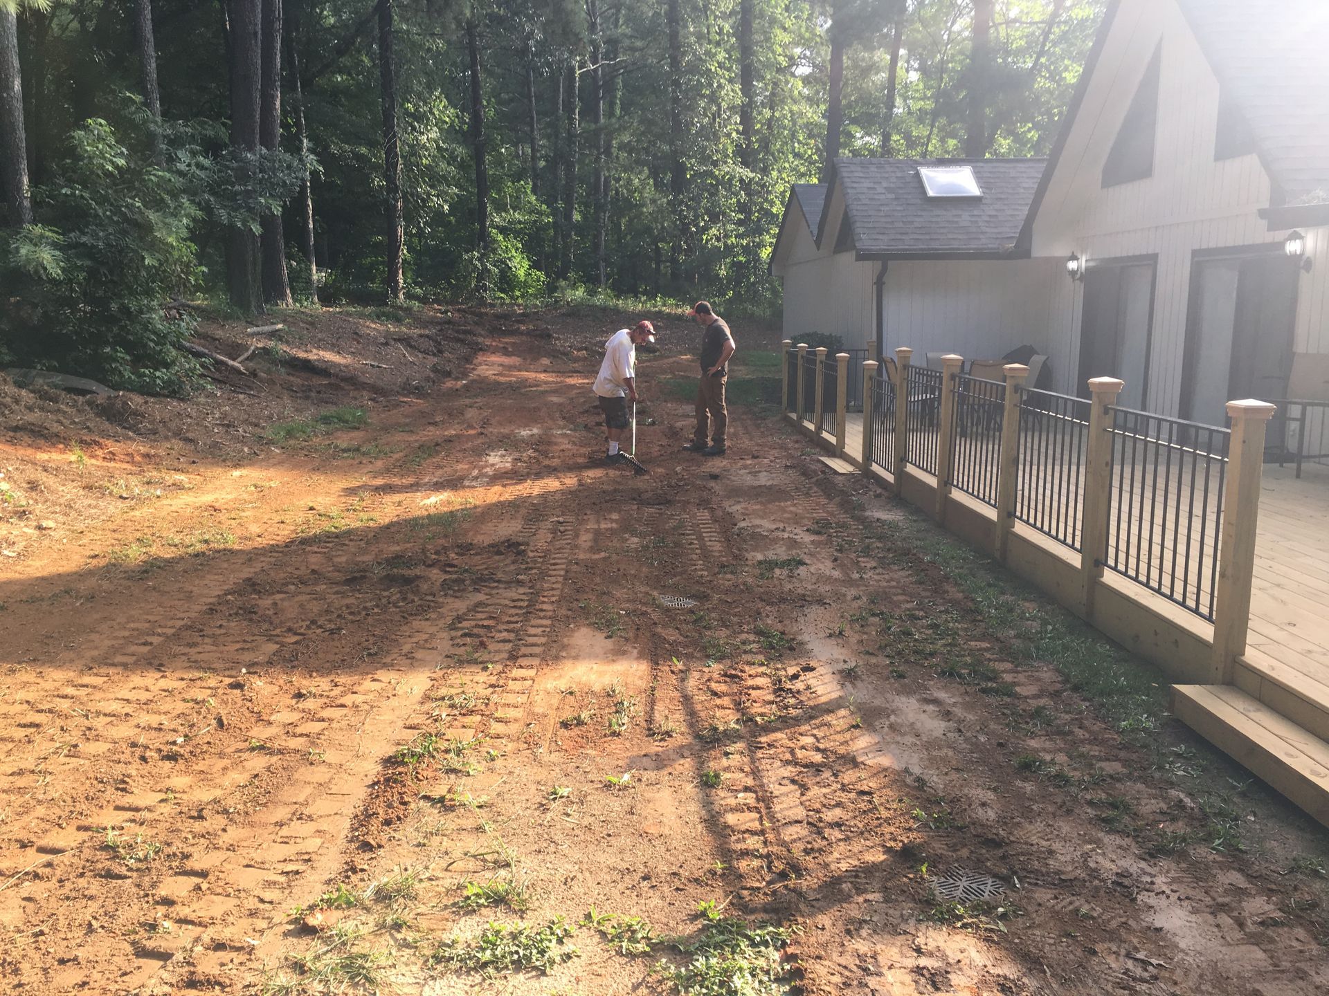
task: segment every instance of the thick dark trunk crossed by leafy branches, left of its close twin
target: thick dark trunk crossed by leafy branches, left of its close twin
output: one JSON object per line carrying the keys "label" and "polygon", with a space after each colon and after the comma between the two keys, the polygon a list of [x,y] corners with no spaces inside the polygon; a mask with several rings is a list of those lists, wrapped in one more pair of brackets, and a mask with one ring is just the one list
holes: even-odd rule
{"label": "thick dark trunk crossed by leafy branches, left of its close twin", "polygon": [[[250,158],[259,147],[259,0],[227,0],[231,65],[231,149],[239,154],[237,183],[254,182]],[[249,157],[249,158],[246,158]],[[263,309],[259,296],[258,236],[247,227],[231,228],[227,242],[226,284],[231,304],[246,315]]]}

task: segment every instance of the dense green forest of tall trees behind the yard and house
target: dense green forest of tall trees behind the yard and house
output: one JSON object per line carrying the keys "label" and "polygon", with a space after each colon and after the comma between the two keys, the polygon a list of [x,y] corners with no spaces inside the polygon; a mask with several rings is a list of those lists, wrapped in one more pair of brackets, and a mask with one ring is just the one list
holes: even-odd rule
{"label": "dense green forest of tall trees behind the yard and house", "polygon": [[209,297],[779,311],[837,155],[1046,154],[1106,0],[0,0],[0,365],[181,389]]}

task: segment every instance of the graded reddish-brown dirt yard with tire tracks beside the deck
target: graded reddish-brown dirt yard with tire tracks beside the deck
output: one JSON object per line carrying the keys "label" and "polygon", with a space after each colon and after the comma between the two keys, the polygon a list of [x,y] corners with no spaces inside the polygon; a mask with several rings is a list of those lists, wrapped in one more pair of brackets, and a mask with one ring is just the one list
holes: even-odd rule
{"label": "graded reddish-brown dirt yard with tire tracks beside the deck", "polygon": [[1329,991],[1325,835],[771,408],[682,453],[695,329],[595,462],[614,327],[213,458],[7,437],[65,515],[0,560],[0,989]]}

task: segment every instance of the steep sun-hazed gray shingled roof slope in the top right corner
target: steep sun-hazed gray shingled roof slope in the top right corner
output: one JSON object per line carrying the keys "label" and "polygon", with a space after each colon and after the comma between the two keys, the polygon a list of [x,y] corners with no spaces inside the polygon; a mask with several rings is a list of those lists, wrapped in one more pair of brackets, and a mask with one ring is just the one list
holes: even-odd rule
{"label": "steep sun-hazed gray shingled roof slope in the top right corner", "polygon": [[1329,202],[1329,3],[1177,3],[1286,203]]}

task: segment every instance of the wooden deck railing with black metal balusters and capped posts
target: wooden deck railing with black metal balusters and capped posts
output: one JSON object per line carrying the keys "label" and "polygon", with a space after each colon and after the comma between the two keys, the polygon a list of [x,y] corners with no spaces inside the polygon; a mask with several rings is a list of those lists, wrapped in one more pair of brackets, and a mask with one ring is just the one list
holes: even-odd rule
{"label": "wooden deck railing with black metal balusters and capped posts", "polygon": [[[993,517],[989,531],[975,531],[971,517],[958,527],[1003,562],[1017,523],[1054,540],[1078,576],[1049,586],[1090,620],[1102,615],[1095,598],[1107,567],[1138,586],[1136,602],[1147,590],[1212,623],[1207,671],[1231,680],[1245,652],[1273,405],[1232,401],[1224,429],[1124,412],[1115,404],[1123,382],[1112,377],[1091,380],[1090,400],[1079,401],[1025,388],[1029,369],[1018,364],[998,385],[962,374],[958,356],[930,371],[912,368],[912,351],[898,349],[893,368],[881,371],[889,377],[867,361],[860,384],[848,353],[809,355],[787,340],[784,356],[795,360],[784,365],[784,408],[804,432],[938,522],[958,498],[953,485],[977,498],[978,514]],[[852,442],[851,397],[863,398]],[[1140,453],[1148,456],[1136,459]]]}

